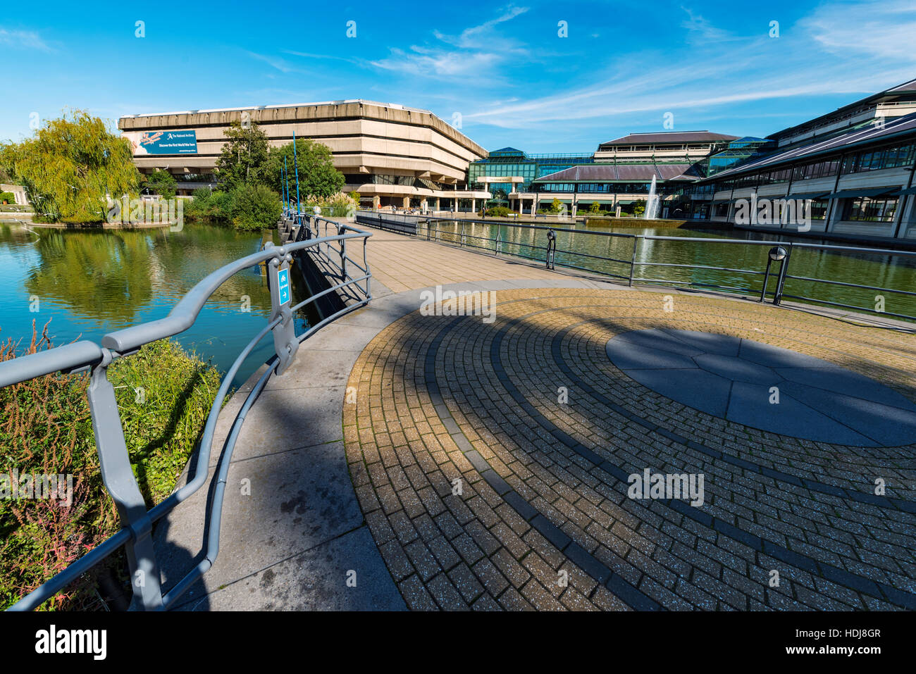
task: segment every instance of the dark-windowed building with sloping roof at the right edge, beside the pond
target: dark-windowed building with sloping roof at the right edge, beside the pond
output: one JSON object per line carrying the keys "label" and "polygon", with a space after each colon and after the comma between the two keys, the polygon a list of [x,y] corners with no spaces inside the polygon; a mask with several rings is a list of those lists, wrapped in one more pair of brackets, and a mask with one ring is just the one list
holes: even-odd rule
{"label": "dark-windowed building with sloping roof at the right edge, beside the pond", "polygon": [[[705,202],[710,220],[740,227],[916,241],[916,80],[767,139],[685,196]],[[744,222],[749,204],[769,216]]]}

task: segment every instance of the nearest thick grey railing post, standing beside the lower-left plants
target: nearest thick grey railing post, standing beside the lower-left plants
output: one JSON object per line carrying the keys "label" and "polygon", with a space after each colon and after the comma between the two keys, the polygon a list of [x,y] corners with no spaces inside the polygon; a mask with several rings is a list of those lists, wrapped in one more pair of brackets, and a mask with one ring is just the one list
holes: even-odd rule
{"label": "nearest thick grey railing post, standing beside the lower-left plants", "polygon": [[99,454],[102,481],[114,501],[121,525],[130,529],[133,538],[125,545],[130,585],[134,592],[131,608],[135,611],[162,609],[162,589],[156,551],[153,549],[152,522],[127,454],[124,429],[118,413],[114,386],[108,381],[108,364],[112,354],[103,349],[102,362],[93,366],[87,397],[93,418],[95,448]]}

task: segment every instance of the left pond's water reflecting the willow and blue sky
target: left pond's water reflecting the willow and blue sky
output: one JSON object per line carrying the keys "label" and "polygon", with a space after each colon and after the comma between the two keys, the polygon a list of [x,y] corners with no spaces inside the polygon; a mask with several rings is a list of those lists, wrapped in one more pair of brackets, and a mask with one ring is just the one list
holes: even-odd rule
{"label": "left pond's water reflecting the willow and blue sky", "polygon": [[[0,337],[27,343],[34,320],[39,330],[50,321],[55,344],[98,340],[106,332],[162,318],[203,277],[263,243],[262,234],[206,225],[180,232],[0,226]],[[38,311],[32,310],[36,306]],[[249,268],[226,280],[176,339],[225,370],[264,327],[269,312],[264,270]],[[298,329],[305,329],[305,321]],[[268,336],[235,384],[271,350]]]}

